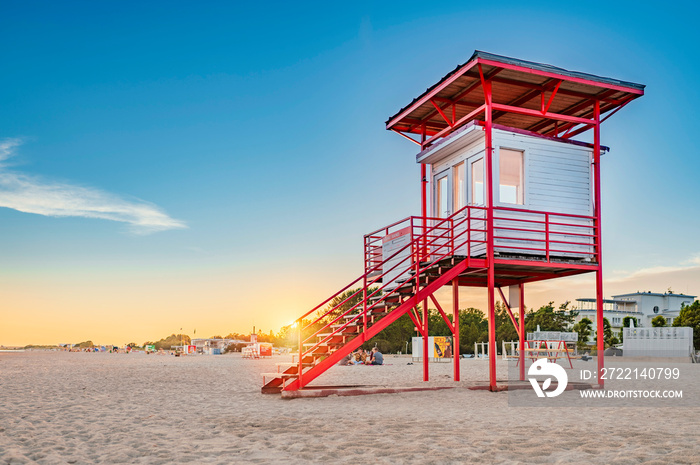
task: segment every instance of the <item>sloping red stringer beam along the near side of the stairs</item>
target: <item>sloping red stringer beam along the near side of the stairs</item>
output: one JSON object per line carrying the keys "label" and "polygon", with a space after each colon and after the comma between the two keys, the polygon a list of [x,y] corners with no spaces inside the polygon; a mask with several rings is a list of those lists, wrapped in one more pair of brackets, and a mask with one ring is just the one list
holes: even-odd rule
{"label": "sloping red stringer beam along the near side of the stairs", "polygon": [[[373,324],[370,328],[367,329],[366,332],[360,333],[356,338],[349,341],[344,346],[340,347],[338,350],[330,354],[323,361],[313,366],[308,371],[303,372],[301,375],[301,380],[299,380],[298,378],[295,379],[287,386],[285,386],[284,390],[296,391],[298,389],[303,388],[314,379],[318,378],[320,375],[325,373],[326,370],[338,363],[343,357],[360,347],[365,342],[372,339],[382,330],[386,329],[390,324],[401,318],[411,308],[417,306],[422,300],[427,299],[442,286],[444,286],[445,284],[449,283],[454,278],[462,274],[462,272],[464,272],[468,267],[468,259],[462,260],[461,262],[457,263],[450,270],[448,270],[444,274],[441,274],[440,277],[435,279],[423,289],[419,290],[418,293],[405,300],[396,309],[392,310],[391,313],[389,313],[384,318]],[[301,384],[302,382],[303,384]]]}

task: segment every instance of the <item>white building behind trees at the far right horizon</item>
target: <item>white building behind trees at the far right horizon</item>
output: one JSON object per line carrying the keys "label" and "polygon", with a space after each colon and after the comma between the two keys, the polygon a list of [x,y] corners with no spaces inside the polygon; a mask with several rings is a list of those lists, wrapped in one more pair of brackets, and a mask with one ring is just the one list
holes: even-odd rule
{"label": "white building behind trees at the far right horizon", "polygon": [[[651,327],[651,320],[661,315],[666,318],[666,323],[670,326],[673,319],[678,316],[681,307],[690,305],[697,296],[674,294],[666,292],[656,294],[653,292],[635,292],[632,294],[614,295],[612,299],[603,301],[603,317],[607,318],[613,331],[622,328],[622,321],[626,316],[637,319],[636,325],[639,327]],[[576,322],[582,318],[588,318],[596,327],[596,299],[581,298],[576,299],[578,316]]]}

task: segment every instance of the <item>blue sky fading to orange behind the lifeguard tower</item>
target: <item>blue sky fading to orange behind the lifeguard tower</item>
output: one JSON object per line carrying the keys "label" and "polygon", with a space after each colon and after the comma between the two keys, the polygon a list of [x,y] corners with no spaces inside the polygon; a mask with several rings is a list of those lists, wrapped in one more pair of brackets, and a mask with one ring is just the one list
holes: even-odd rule
{"label": "blue sky fading to orange behind the lifeguard tower", "polygon": [[700,293],[697,17],[3,2],[0,344],[277,330],[360,274],[364,233],[419,212],[415,146],[384,121],[475,49],[647,85],[603,126],[609,289]]}

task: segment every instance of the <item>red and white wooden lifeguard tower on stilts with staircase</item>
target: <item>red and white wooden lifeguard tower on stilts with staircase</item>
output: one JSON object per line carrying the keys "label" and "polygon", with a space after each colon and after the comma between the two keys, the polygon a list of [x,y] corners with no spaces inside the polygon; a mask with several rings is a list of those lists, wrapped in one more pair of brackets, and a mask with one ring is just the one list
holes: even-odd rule
{"label": "red and white wooden lifeguard tower on stilts with staircase", "polygon": [[[525,346],[526,283],[595,273],[602,328],[600,125],[642,95],[640,84],[477,51],[389,118],[388,130],[420,147],[421,214],[364,237],[364,272],[297,320],[300,356],[262,391],[304,388],[402,315],[427,345],[429,300],[452,332],[458,381],[460,286],[488,290],[489,354],[497,295]],[[574,139],[589,130],[593,143]],[[434,297],[446,285],[455,324]],[[603,344],[599,331],[599,370]]]}

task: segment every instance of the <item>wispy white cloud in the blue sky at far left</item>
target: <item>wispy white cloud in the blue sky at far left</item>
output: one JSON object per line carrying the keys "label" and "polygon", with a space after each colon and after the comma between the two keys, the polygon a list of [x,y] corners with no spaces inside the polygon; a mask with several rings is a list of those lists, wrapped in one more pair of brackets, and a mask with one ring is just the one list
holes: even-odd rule
{"label": "wispy white cloud in the blue sky at far left", "polygon": [[137,234],[186,228],[162,209],[92,187],[46,181],[7,168],[20,139],[0,141],[0,207],[53,217],[83,217],[127,223]]}

